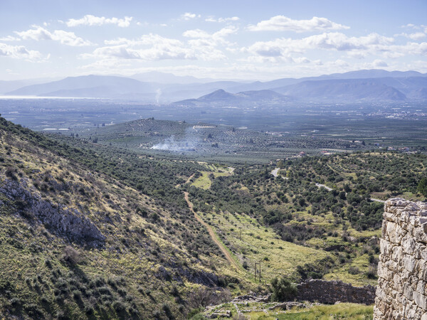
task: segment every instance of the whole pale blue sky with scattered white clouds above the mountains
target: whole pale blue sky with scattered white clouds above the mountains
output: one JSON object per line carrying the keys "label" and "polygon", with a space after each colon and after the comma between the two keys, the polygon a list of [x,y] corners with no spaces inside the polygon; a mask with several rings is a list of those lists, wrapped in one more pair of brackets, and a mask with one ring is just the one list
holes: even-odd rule
{"label": "whole pale blue sky with scattered white clouds above the mountains", "polygon": [[0,80],[427,73],[427,0],[0,0]]}

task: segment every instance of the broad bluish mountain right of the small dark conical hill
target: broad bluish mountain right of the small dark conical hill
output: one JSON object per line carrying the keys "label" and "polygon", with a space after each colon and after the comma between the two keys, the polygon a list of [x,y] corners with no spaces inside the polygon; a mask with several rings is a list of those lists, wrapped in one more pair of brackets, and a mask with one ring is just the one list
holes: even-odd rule
{"label": "broad bluish mountain right of the small dark conical hill", "polygon": [[376,79],[303,81],[274,89],[299,100],[406,100],[406,95]]}

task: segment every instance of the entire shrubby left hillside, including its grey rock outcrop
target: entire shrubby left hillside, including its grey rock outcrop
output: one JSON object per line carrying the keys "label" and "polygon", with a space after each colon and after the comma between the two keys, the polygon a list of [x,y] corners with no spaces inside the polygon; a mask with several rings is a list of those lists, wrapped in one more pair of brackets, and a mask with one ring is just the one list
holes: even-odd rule
{"label": "entire shrubby left hillside, including its grey rock outcrop", "polygon": [[[184,319],[198,306],[188,297],[197,287],[218,302],[227,295],[236,280],[218,276],[221,252],[183,196],[182,206],[167,199],[181,190],[135,182],[167,176],[169,164],[141,159],[132,181],[116,155],[90,157],[0,118],[0,314]],[[168,181],[184,182],[189,171]]]}

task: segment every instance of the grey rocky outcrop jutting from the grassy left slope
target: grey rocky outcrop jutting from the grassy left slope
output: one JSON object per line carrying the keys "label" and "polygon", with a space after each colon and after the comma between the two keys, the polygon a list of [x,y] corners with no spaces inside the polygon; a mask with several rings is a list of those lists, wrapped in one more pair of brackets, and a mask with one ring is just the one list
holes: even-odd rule
{"label": "grey rocky outcrop jutting from the grassy left slope", "polygon": [[28,191],[26,181],[23,179],[20,183],[9,179],[1,182],[0,193],[7,199],[0,201],[0,206],[13,206],[16,213],[27,218],[35,218],[51,233],[91,246],[100,246],[104,243],[105,236],[83,213],[43,201],[37,193]]}

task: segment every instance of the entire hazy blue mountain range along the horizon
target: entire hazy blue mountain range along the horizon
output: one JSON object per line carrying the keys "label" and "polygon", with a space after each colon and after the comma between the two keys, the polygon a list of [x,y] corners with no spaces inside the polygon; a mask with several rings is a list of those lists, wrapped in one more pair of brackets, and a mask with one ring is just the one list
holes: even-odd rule
{"label": "entire hazy blue mountain range along the horizon", "polygon": [[[23,82],[25,83],[25,82]],[[95,97],[145,103],[276,103],[281,101],[407,101],[427,100],[427,74],[416,71],[359,70],[310,78],[268,82],[214,81],[168,73],[142,73],[131,78],[83,75],[24,85],[0,83],[6,95]],[[3,88],[3,89],[2,89]],[[5,90],[6,89],[6,90]]]}

